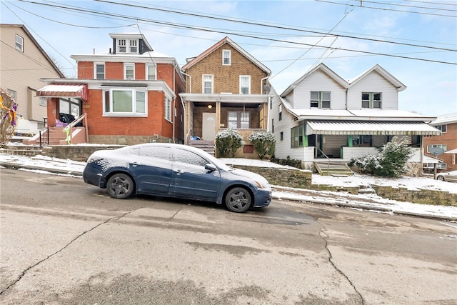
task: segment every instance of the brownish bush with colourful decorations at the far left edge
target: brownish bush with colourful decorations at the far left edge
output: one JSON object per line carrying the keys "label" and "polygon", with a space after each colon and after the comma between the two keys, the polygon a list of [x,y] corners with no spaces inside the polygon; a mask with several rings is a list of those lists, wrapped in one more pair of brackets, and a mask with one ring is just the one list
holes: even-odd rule
{"label": "brownish bush with colourful decorations at the far left edge", "polygon": [[8,143],[13,136],[16,108],[16,101],[4,89],[0,89],[0,145]]}

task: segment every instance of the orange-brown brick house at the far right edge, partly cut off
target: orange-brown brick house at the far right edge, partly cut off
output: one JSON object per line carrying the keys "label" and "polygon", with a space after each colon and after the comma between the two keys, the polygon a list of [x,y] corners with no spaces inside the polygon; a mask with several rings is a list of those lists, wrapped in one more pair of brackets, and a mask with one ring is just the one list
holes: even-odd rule
{"label": "orange-brown brick house at the far right edge, partly cut off", "polygon": [[[423,147],[426,154],[435,156],[434,153],[437,153],[436,157],[443,161],[443,163],[436,164],[438,170],[457,171],[457,114],[438,116],[430,125],[441,130],[441,135],[426,136],[423,139]],[[428,169],[433,169],[433,165],[432,163],[426,163]]]}

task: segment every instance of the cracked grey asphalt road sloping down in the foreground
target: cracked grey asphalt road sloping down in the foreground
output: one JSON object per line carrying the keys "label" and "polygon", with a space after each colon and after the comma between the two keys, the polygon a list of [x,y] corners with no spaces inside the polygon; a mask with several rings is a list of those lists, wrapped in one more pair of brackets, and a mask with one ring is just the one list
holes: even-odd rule
{"label": "cracked grey asphalt road sloping down in the foreground", "polygon": [[457,304],[457,224],[0,169],[1,304]]}

